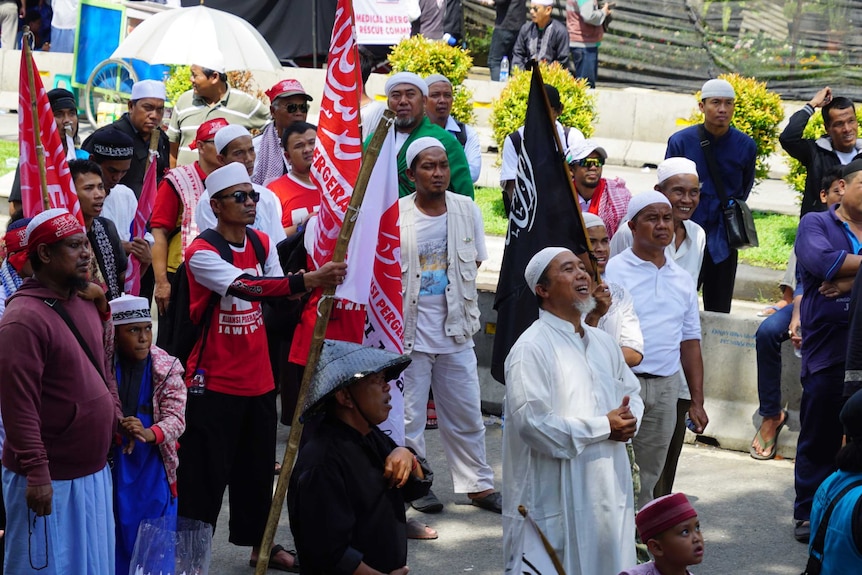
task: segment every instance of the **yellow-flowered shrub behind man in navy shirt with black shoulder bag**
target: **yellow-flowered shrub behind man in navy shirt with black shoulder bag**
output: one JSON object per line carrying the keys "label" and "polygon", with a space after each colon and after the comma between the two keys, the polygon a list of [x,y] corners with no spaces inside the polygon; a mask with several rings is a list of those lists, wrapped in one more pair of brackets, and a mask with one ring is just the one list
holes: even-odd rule
{"label": "yellow-flowered shrub behind man in navy shirt with black shoulder bag", "polygon": [[[738,74],[722,74],[736,92],[736,108],[730,125],[748,134],[757,144],[757,164],[755,181],[769,176],[769,156],[778,146],[778,124],[784,119],[781,96],[766,89],[766,82],[746,78]],[[700,102],[700,92],[695,97]],[[692,124],[703,122],[703,113],[697,110],[691,118]]]}

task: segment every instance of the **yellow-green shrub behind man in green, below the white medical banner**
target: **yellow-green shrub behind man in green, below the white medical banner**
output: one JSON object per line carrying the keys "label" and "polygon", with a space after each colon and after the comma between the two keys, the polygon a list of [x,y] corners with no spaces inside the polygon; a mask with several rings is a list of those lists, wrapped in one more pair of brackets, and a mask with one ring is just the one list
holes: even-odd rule
{"label": "yellow-green shrub behind man in green, below the white medical banner", "polygon": [[442,74],[452,82],[452,117],[465,124],[476,122],[473,113],[473,91],[463,85],[473,58],[469,50],[449,46],[445,42],[413,36],[398,43],[389,55],[392,72],[413,72],[423,78]]}

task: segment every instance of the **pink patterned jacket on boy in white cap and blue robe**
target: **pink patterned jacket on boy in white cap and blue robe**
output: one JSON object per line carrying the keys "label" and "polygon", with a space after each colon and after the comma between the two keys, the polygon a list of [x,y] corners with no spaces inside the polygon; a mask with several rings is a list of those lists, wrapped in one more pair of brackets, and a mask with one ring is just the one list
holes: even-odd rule
{"label": "pink patterned jacket on boy in white cap and blue robe", "polygon": [[153,424],[171,494],[177,496],[177,440],[186,429],[185,369],[177,358],[160,347],[150,348],[153,360]]}

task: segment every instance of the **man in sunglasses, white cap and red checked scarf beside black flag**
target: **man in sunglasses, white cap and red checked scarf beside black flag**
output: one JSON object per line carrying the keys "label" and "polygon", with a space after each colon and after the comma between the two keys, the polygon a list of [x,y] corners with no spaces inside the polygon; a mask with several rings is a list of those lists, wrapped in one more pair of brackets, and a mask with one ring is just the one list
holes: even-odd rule
{"label": "man in sunglasses, white cap and red checked scarf beside black flag", "polygon": [[622,178],[608,180],[602,177],[602,167],[607,159],[608,153],[593,140],[581,140],[566,153],[581,211],[602,218],[608,238],[613,239],[626,215],[632,194]]}

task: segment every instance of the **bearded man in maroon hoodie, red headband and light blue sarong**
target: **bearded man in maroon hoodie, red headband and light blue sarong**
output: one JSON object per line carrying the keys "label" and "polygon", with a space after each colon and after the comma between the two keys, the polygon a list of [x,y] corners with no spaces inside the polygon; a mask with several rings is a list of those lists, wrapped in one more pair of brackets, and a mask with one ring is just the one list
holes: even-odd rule
{"label": "bearded man in maroon hoodie, red headband and light blue sarong", "polygon": [[105,352],[110,310],[103,296],[97,307],[79,291],[101,293],[87,282],[92,252],[74,216],[46,210],[26,235],[33,277],[6,302],[0,322],[5,567],[109,575],[114,511],[106,454],[122,417]]}

